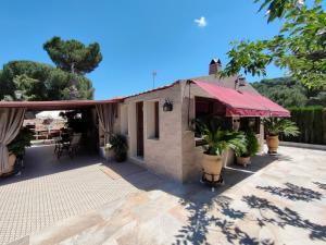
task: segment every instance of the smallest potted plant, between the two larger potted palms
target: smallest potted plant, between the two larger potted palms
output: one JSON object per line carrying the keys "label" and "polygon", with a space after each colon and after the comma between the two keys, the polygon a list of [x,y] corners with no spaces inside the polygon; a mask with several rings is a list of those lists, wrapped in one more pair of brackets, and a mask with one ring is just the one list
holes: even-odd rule
{"label": "smallest potted plant, between the two larger potted palms", "polygon": [[244,131],[243,134],[246,136],[246,150],[239,150],[237,163],[247,167],[250,164],[250,158],[258,154],[260,144],[252,130]]}

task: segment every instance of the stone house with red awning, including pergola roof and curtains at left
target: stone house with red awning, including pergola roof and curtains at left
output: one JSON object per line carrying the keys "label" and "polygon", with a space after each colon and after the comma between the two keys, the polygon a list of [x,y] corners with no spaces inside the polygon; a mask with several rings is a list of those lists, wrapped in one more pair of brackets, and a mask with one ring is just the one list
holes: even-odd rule
{"label": "stone house with red awning, including pergola roof and curtains at left", "polygon": [[[130,161],[178,182],[198,180],[202,149],[192,131],[193,119],[216,115],[234,130],[250,125],[262,146],[261,118],[289,117],[288,110],[261,96],[243,78],[216,76],[220,69],[221,61],[214,59],[206,76],[110,100],[0,101],[0,174],[10,169],[7,146],[28,112],[87,109],[93,123],[87,135],[95,136],[99,121],[102,149],[111,133],[121,133],[127,136]],[[234,154],[227,151],[224,164],[231,163],[233,158]]]}

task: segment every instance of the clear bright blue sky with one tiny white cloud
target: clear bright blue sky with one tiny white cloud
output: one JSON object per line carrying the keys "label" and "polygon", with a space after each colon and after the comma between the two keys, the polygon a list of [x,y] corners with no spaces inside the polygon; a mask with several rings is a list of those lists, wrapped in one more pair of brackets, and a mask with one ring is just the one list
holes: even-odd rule
{"label": "clear bright blue sky with one tiny white cloud", "polygon": [[[13,60],[53,64],[42,49],[53,36],[99,42],[89,73],[95,98],[125,96],[176,79],[206,75],[212,58],[227,63],[234,40],[268,38],[253,0],[0,0],[0,69]],[[269,66],[267,77],[283,76]],[[249,82],[263,77],[247,76]]]}

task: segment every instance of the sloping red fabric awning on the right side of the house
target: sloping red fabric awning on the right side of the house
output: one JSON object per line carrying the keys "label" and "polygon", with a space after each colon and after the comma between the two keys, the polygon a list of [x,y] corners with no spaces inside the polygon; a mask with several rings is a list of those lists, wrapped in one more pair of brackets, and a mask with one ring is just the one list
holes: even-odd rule
{"label": "sloping red fabric awning on the right side of the house", "polygon": [[192,81],[226,106],[226,117],[290,117],[290,112],[264,96]]}

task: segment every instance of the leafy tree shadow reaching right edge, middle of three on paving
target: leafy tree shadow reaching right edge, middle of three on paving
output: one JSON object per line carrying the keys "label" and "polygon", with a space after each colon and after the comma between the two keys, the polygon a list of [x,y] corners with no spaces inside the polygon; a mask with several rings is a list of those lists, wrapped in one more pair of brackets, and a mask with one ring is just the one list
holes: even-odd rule
{"label": "leafy tree shadow reaching right edge, middle of three on paving", "polygon": [[275,217],[264,217],[260,220],[261,223],[272,223],[280,228],[291,225],[296,228],[302,228],[310,231],[310,238],[326,241],[326,225],[321,225],[311,222],[308,219],[303,219],[297,211],[289,208],[279,208],[265,198],[261,198],[254,195],[243,196],[244,201],[250,208],[259,209],[263,216],[263,211],[272,211]]}

